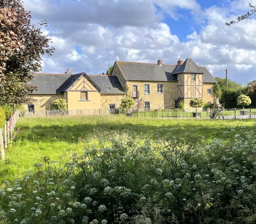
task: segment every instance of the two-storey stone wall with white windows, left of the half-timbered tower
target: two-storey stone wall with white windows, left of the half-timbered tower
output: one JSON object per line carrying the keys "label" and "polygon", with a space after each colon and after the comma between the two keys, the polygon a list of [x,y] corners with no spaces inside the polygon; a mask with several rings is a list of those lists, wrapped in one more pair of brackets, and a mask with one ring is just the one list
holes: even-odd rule
{"label": "two-storey stone wall with white windows, left of the half-timbered tower", "polygon": [[[144,94],[144,84],[150,85],[150,94]],[[163,93],[157,93],[157,84],[163,84]],[[139,102],[149,101],[150,109],[164,109],[174,107],[177,99],[176,81],[127,81],[127,95],[132,97],[133,85],[138,86]]]}

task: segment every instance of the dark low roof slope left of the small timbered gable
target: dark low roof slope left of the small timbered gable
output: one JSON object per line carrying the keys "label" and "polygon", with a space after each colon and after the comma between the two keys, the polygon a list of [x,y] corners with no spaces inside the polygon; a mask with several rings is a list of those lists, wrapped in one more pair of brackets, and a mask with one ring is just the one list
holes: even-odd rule
{"label": "dark low roof slope left of the small timbered gable", "polygon": [[34,73],[30,83],[38,89],[38,91],[34,91],[33,93],[58,94],[60,93],[60,87],[69,77],[70,75],[66,74]]}

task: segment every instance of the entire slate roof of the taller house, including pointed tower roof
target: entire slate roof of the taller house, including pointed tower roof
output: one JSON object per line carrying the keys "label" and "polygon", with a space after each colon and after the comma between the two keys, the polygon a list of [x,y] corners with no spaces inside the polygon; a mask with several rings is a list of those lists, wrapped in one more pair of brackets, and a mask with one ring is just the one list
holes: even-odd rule
{"label": "entire slate roof of the taller house, including pointed tower roof", "polygon": [[116,61],[126,80],[131,81],[177,81],[179,73],[203,73],[203,82],[216,83],[206,67],[199,67],[191,58],[187,58],[182,65],[159,66],[155,63],[139,63]]}

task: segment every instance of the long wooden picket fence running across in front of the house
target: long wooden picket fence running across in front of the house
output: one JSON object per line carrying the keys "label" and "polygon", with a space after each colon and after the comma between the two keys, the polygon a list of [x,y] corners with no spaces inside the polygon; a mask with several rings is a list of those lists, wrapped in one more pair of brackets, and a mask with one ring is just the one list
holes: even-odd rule
{"label": "long wooden picket fence running across in front of the house", "polygon": [[58,116],[99,116],[132,117],[150,119],[256,119],[253,109],[76,109],[18,111],[20,117],[58,117]]}

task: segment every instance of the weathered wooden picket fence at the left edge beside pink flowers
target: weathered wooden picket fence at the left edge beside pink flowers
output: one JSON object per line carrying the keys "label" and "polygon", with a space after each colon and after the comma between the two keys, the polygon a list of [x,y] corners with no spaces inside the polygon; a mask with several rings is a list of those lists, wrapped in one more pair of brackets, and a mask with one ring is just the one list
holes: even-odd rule
{"label": "weathered wooden picket fence at the left edge beside pink flowers", "polygon": [[16,133],[15,127],[16,122],[20,118],[19,112],[16,111],[14,114],[11,115],[9,121],[6,121],[4,124],[4,127],[2,129],[0,128],[0,154],[1,154],[1,160],[5,159],[5,150],[7,149],[8,145],[11,143],[12,139],[15,138]]}

